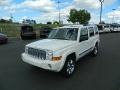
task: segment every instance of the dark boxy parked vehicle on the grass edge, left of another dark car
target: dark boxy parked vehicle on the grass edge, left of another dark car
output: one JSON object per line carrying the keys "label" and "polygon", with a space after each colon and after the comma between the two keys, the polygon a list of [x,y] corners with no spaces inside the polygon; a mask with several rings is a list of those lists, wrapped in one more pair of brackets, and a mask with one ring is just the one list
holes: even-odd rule
{"label": "dark boxy parked vehicle on the grass edge, left of another dark car", "polygon": [[21,39],[35,39],[36,32],[30,25],[23,25],[21,26]]}

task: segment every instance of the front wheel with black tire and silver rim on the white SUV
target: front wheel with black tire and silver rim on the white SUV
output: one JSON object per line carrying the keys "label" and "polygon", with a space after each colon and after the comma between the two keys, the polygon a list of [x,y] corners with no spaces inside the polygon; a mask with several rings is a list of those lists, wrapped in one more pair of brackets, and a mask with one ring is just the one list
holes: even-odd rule
{"label": "front wheel with black tire and silver rim on the white SUV", "polygon": [[72,56],[67,57],[65,65],[61,71],[62,75],[65,77],[70,77],[76,69],[76,61]]}

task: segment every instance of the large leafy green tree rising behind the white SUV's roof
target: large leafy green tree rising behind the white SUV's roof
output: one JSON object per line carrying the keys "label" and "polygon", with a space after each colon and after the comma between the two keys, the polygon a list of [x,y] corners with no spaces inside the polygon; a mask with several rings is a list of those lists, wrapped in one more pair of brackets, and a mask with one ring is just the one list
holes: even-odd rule
{"label": "large leafy green tree rising behind the white SUV's roof", "polygon": [[87,10],[81,9],[77,11],[76,9],[71,9],[68,21],[72,23],[88,24],[90,19],[91,15]]}

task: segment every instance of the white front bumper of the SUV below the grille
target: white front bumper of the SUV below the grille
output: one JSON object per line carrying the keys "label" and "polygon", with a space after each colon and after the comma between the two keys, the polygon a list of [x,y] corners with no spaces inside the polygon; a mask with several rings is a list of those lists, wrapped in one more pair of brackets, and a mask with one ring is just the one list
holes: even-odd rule
{"label": "white front bumper of the SUV below the grille", "polygon": [[31,65],[55,72],[59,72],[62,68],[61,67],[62,60],[60,61],[40,60],[25,53],[22,54],[22,60]]}

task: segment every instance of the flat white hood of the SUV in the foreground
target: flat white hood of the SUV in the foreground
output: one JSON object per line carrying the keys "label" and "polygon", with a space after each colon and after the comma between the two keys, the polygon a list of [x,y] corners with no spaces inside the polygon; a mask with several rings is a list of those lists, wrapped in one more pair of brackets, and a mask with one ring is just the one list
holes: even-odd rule
{"label": "flat white hood of the SUV in the foreground", "polygon": [[43,40],[30,43],[26,46],[37,48],[37,49],[47,49],[47,50],[56,51],[59,49],[66,48],[75,43],[76,41],[70,41],[70,40],[43,39]]}

